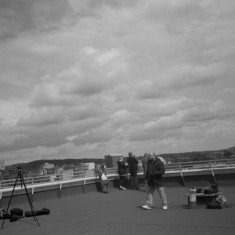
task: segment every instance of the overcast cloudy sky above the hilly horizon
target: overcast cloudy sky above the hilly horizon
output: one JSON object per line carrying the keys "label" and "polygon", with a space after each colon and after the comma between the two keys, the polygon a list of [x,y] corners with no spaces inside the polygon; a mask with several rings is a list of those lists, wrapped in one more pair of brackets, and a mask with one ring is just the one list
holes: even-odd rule
{"label": "overcast cloudy sky above the hilly horizon", "polygon": [[0,0],[0,159],[235,144],[235,1]]}

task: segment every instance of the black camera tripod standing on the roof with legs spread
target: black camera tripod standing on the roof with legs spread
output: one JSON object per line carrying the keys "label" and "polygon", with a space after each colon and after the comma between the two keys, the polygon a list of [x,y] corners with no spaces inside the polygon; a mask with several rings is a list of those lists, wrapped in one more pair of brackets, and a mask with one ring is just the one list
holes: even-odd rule
{"label": "black camera tripod standing on the roof with legs spread", "polygon": [[[17,185],[17,182],[18,180],[20,181],[20,185],[21,185],[21,188],[24,186],[24,189],[25,189],[25,192],[26,192],[26,195],[27,195],[27,198],[28,198],[28,202],[29,202],[29,205],[30,205],[30,208],[31,208],[31,212],[32,212],[32,215],[34,217],[34,221],[37,222],[37,225],[39,226],[39,222],[38,222],[38,219],[37,219],[37,216],[36,216],[36,213],[34,211],[34,208],[33,208],[33,204],[30,200],[30,197],[29,197],[29,193],[28,193],[28,190],[27,190],[27,187],[26,187],[26,184],[25,184],[25,181],[24,181],[24,177],[23,177],[23,171],[21,169],[21,167],[17,167],[18,169],[18,173],[17,173],[17,177],[16,177],[16,180],[15,180],[15,184],[14,184],[14,187],[12,189],[12,192],[11,192],[11,197],[10,197],[10,200],[9,200],[9,203],[8,203],[8,206],[7,206],[7,210],[6,210],[6,214],[8,213],[8,210],[9,210],[9,207],[10,207],[10,204],[11,204],[11,200],[13,198],[13,194],[14,194],[14,191],[15,191],[15,187]],[[3,225],[5,223],[5,218],[2,222],[2,227],[1,229],[3,229]]]}

